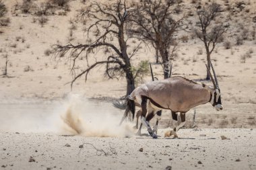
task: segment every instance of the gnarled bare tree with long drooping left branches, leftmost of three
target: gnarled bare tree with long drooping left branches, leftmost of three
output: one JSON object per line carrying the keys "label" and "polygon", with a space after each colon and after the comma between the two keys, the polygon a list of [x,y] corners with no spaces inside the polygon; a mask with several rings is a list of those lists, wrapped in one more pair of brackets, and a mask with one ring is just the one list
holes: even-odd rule
{"label": "gnarled bare tree with long drooping left branches, leftmost of three", "polygon": [[[73,83],[84,75],[88,78],[88,73],[99,65],[105,65],[105,73],[110,78],[119,78],[125,76],[127,81],[127,95],[135,89],[135,78],[141,72],[141,69],[134,69],[131,65],[131,59],[140,48],[140,44],[127,46],[127,41],[131,40],[125,34],[125,25],[127,24],[128,9],[122,0],[112,3],[92,2],[87,8],[81,11],[81,21],[85,24],[85,44],[68,44],[62,46],[55,45],[56,56],[67,56],[72,61],[71,71],[73,73]],[[132,48],[129,55],[128,48]],[[68,54],[67,54],[68,53]],[[96,55],[104,57],[96,57]],[[87,67],[76,74],[76,65],[79,56],[85,55]]]}

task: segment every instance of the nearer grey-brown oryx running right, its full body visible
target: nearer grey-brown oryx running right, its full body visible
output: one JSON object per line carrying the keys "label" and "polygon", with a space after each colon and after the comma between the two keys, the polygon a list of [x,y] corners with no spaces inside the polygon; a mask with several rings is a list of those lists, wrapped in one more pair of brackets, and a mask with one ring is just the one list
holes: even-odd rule
{"label": "nearer grey-brown oryx running right, its full body visible", "polygon": [[[172,134],[177,136],[176,132],[185,125],[185,113],[191,108],[210,102],[216,110],[223,109],[220,88],[212,63],[211,67],[214,78],[210,68],[206,65],[214,88],[179,76],[161,81],[151,81],[137,87],[127,96],[125,115],[131,112],[134,118],[135,104],[139,105],[141,107],[141,123],[146,126],[150,136],[157,138],[149,124],[151,118],[149,116],[146,118],[147,112],[148,115],[154,116],[158,110],[170,110],[174,120],[177,120],[177,112],[181,112],[181,124],[172,131]],[[160,116],[157,119],[160,120]]]}

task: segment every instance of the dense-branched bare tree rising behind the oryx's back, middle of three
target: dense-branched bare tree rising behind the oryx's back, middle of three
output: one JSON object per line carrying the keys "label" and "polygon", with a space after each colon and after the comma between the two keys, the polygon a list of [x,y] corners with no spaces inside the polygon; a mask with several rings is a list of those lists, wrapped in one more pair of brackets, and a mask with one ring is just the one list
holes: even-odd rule
{"label": "dense-branched bare tree rising behind the oryx's back, middle of three", "polygon": [[[164,79],[169,77],[170,60],[177,49],[174,35],[181,28],[184,17],[174,19],[174,0],[141,0],[129,15],[129,34],[150,42],[162,57]],[[172,48],[171,48],[172,47]]]}

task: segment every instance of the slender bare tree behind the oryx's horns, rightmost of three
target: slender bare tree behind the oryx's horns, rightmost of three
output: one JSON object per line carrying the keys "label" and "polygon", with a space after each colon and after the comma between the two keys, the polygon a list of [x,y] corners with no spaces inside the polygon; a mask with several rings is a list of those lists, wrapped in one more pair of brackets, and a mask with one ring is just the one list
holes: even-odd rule
{"label": "slender bare tree behind the oryx's horns, rightmost of three", "polygon": [[[195,29],[195,34],[203,42],[207,56],[207,66],[211,65],[211,54],[216,47],[216,44],[221,42],[222,35],[226,32],[228,25],[224,26],[223,22],[216,23],[214,20],[220,15],[221,7],[218,3],[205,4],[202,7],[197,7],[197,16],[199,19],[198,27]],[[207,73],[206,79],[210,79]]]}

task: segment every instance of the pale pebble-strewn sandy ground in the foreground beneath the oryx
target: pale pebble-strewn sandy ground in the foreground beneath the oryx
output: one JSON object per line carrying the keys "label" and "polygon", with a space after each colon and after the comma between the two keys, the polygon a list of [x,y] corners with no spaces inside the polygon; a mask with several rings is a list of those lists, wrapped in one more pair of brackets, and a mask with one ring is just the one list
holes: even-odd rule
{"label": "pale pebble-strewn sandy ground in the foreground beneath the oryx", "polygon": [[255,129],[186,129],[179,136],[154,140],[6,132],[0,134],[0,165],[1,169],[256,169]]}

